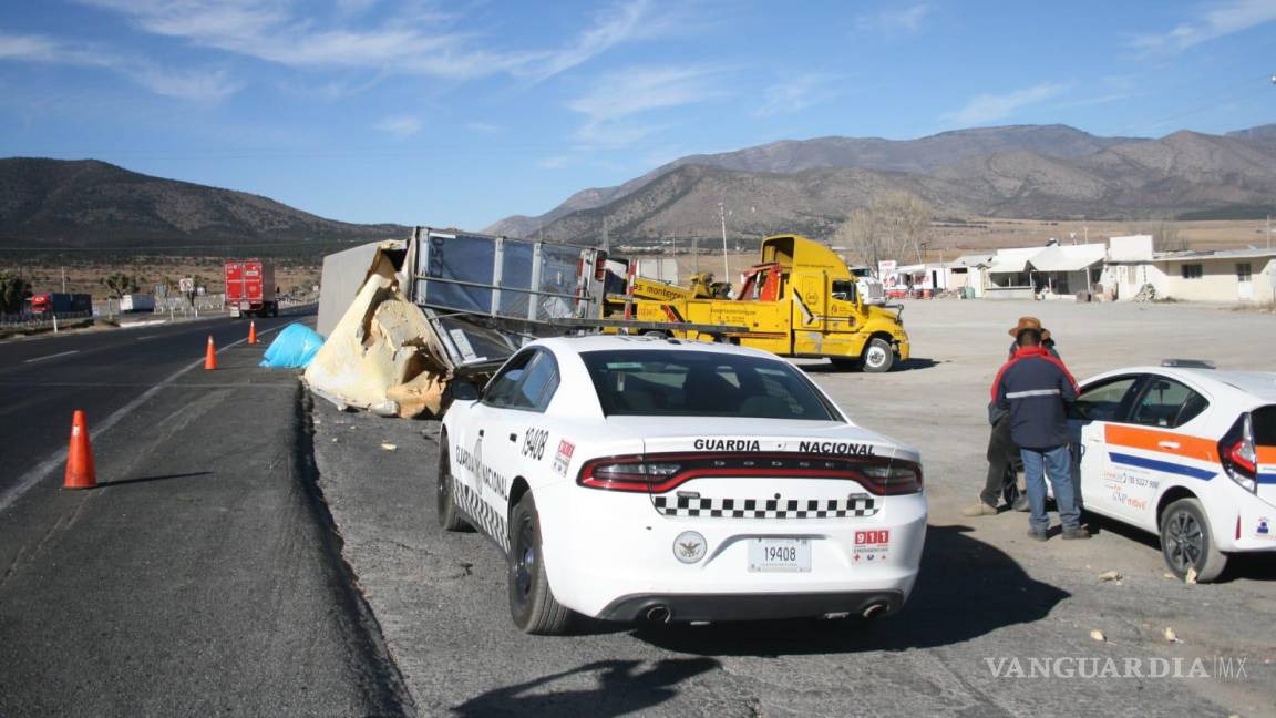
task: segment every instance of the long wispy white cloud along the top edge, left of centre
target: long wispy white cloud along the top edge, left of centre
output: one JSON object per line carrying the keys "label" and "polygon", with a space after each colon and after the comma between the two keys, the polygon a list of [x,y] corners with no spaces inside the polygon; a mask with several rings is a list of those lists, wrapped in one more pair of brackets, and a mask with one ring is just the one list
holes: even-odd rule
{"label": "long wispy white cloud along the top edge, left of centre", "polygon": [[[292,13],[288,0],[79,0],[129,17],[139,28],[291,68],[357,68],[471,79],[499,73],[544,79],[574,68],[630,40],[665,27],[651,0],[628,0],[559,50],[482,50],[500,42],[452,29],[453,18],[404,13],[375,28],[319,27]],[[371,3],[347,0],[346,15]],[[348,19],[348,18],[347,18]]]}

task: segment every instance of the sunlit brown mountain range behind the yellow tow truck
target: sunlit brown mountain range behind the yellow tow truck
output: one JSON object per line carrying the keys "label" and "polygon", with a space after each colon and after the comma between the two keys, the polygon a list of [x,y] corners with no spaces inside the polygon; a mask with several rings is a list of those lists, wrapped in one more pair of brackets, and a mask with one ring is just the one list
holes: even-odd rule
{"label": "sunlit brown mountain range behind the yellow tow truck", "polygon": [[824,137],[692,155],[618,187],[578,192],[486,231],[596,243],[612,236],[827,235],[891,189],[939,217],[1239,218],[1276,204],[1276,125],[1212,135],[1097,137],[1065,125],[946,132],[909,141]]}

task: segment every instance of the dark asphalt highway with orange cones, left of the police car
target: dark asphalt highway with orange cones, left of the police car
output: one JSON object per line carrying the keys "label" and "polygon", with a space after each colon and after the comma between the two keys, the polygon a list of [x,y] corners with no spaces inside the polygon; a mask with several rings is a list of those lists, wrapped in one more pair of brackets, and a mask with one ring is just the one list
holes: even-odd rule
{"label": "dark asphalt highway with orange cones, left of the police car", "polygon": [[[245,333],[0,345],[0,715],[411,713],[315,489],[295,373],[256,368]],[[93,491],[60,489],[73,409]]]}

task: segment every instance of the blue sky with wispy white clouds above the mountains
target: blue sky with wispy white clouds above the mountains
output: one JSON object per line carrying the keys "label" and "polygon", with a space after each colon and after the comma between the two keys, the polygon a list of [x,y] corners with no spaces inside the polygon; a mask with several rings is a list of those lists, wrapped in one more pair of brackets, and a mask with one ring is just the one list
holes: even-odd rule
{"label": "blue sky with wispy white clouds above the mountains", "polygon": [[693,152],[1276,121],[1276,0],[14,0],[0,156],[481,229]]}

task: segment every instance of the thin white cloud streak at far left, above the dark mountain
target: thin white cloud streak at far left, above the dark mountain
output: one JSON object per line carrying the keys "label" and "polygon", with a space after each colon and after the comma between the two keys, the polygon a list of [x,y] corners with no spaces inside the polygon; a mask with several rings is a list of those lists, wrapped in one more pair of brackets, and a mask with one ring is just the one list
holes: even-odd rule
{"label": "thin white cloud streak at far left, above the dark mountain", "polygon": [[0,60],[100,68],[117,73],[156,95],[199,102],[221,101],[244,87],[221,69],[171,69],[145,57],[33,34],[0,33]]}

